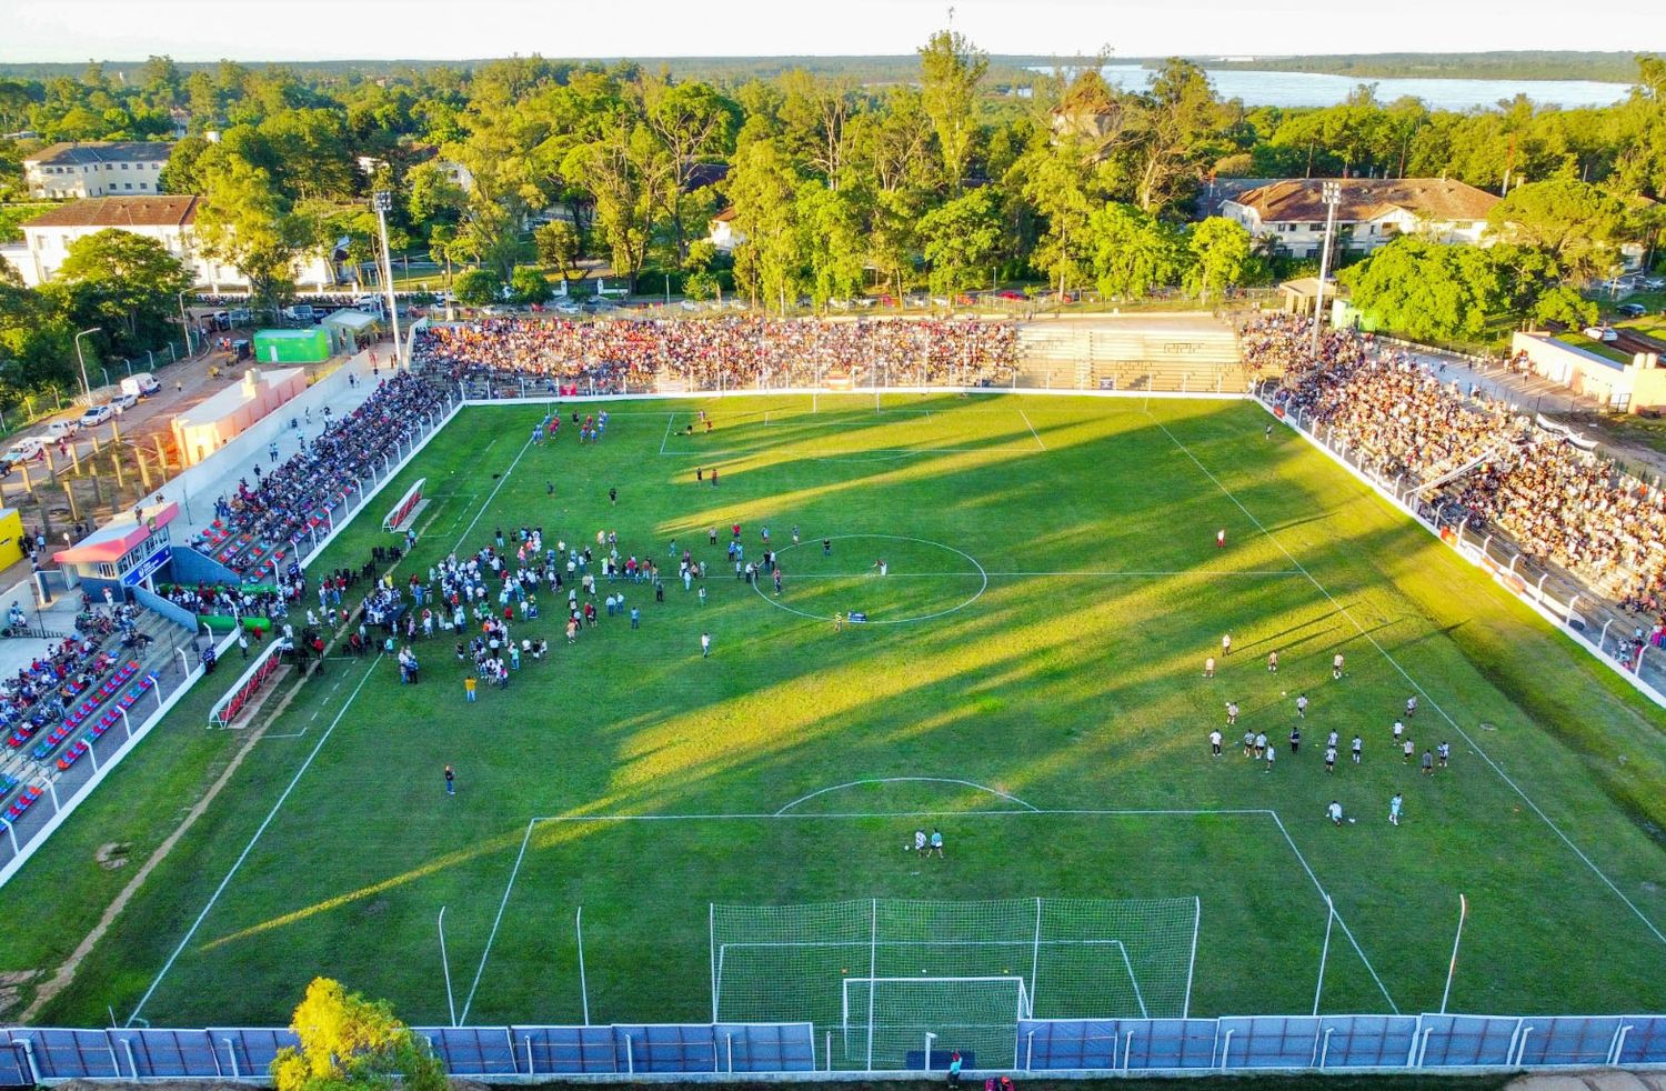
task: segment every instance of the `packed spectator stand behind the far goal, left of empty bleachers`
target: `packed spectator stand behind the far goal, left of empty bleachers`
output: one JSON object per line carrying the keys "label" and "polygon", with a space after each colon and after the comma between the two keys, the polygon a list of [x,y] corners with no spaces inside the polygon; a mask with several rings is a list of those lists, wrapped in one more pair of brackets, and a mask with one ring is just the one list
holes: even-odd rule
{"label": "packed spectator stand behind the far goal, left of empty bleachers", "polygon": [[811,386],[831,376],[868,385],[875,370],[906,385],[988,385],[1018,361],[1011,321],[955,320],[520,320],[430,326],[413,340],[418,368],[463,381],[471,395],[650,388],[661,375],[691,388]]}

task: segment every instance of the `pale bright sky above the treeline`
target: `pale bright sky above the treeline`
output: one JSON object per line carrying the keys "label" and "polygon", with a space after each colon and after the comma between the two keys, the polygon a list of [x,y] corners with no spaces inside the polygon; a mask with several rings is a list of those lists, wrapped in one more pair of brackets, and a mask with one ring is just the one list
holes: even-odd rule
{"label": "pale bright sky above the treeline", "polygon": [[[991,53],[1666,50],[1651,0],[953,0]],[[946,0],[0,0],[0,62],[910,53]]]}

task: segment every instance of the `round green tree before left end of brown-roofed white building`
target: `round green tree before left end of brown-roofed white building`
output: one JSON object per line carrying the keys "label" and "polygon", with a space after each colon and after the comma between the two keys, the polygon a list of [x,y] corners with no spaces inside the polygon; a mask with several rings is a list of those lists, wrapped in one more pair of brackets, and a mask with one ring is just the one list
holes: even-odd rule
{"label": "round green tree before left end of brown-roofed white building", "polygon": [[160,242],[118,228],[70,243],[52,283],[73,321],[102,326],[107,348],[123,356],[167,341],[178,293],[190,286]]}

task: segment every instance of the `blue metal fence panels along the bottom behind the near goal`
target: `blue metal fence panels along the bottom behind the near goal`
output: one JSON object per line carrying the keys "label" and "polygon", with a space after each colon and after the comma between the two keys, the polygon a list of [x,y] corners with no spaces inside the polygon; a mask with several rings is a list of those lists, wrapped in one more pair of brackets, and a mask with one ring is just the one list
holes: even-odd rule
{"label": "blue metal fence panels along the bottom behind the near goal", "polygon": [[[821,1028],[821,1034],[833,1028]],[[1223,1016],[1021,1019],[1026,1071],[1509,1069],[1666,1064],[1666,1016]],[[451,1076],[811,1073],[810,1023],[421,1026]],[[953,1048],[945,1028],[940,1043]],[[0,1029],[0,1086],[60,1079],[262,1079],[295,1034],[270,1028]],[[831,1059],[836,1066],[838,1061]]]}

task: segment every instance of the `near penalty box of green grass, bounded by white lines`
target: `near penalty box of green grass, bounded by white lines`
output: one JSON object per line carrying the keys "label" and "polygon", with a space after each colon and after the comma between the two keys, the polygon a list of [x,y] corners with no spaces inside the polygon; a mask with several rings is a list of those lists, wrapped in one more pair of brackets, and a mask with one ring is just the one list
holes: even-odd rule
{"label": "near penalty box of green grass, bounded by white lines", "polygon": [[[833,800],[820,796],[818,806],[833,806]],[[920,859],[911,849],[900,851],[918,826],[945,831],[950,859]],[[1294,868],[1288,858],[1283,866],[1269,863],[1268,833],[1286,843]],[[1176,846],[1183,851],[1175,851]],[[976,863],[958,863],[965,859]],[[1276,871],[1274,883],[1266,881],[1269,868]],[[1233,881],[1235,874],[1258,881]],[[1018,896],[1000,901],[1025,906],[1028,924],[1023,934],[1016,924],[1003,926],[998,943],[968,943],[966,934],[946,934],[943,928],[920,936],[923,943],[876,941],[873,949],[881,958],[888,951],[898,956],[883,966],[870,958],[870,941],[876,938],[871,926],[856,926],[861,921],[843,921],[831,938],[795,931],[798,924],[791,921],[773,933],[716,934],[713,906],[745,903],[786,911],[856,903],[863,908],[873,891],[948,903],[1011,893]],[[1161,894],[1191,906],[1195,911],[1185,921],[1180,1009],[1171,1011],[1173,986],[1168,993],[1148,988],[1143,956],[1128,936],[1048,931],[1053,928],[1048,914],[1038,958],[1036,891],[1045,891],[1043,901],[1060,903]],[[590,1003],[601,979],[611,998],[608,1009],[620,1018],[710,1019],[721,991],[726,998],[721,1018],[763,1019],[791,1006],[776,1003],[771,984],[780,976],[770,971],[771,959],[781,964],[783,956],[761,954],[771,949],[766,944],[785,944],[778,951],[801,956],[818,979],[826,979],[816,986],[813,1003],[816,1021],[830,1026],[843,1023],[845,989],[853,988],[843,984],[846,978],[1016,976],[1026,979],[1038,1018],[1060,1011],[1110,1014],[1086,1008],[1083,993],[1073,994],[1065,1008],[1056,1003],[1065,993],[1058,978],[1048,988],[1046,966],[1060,963],[1068,948],[1083,966],[1100,968],[1106,983],[1100,994],[1115,1001],[1118,1011],[1140,1018],[1143,1008],[1155,1018],[1191,1009],[1195,951],[1201,954],[1196,993],[1206,1004],[1226,1003],[1223,994],[1238,988],[1235,979],[1254,974],[1253,964],[1235,961],[1245,958],[1236,943],[1245,919],[1311,946],[1318,968],[1326,899],[1281,819],[1268,810],[981,810],[971,803],[966,810],[543,816],[526,824],[473,973],[468,1006],[475,1018],[508,1018],[528,1004],[551,1013],[570,1009],[578,1018],[581,998]],[[578,913],[581,934],[573,928]],[[1339,951],[1333,951],[1328,993],[1361,1004],[1386,1003],[1398,1011],[1341,906],[1336,928],[1333,946],[1351,948],[1359,961],[1338,959]],[[628,963],[640,966],[641,959],[655,966],[653,973],[631,971]],[[588,964],[588,983],[581,981],[581,961]],[[1070,959],[1060,964],[1065,963]],[[526,974],[531,964],[545,973]],[[756,989],[741,1003],[745,993],[736,989],[748,978]],[[1266,988],[1273,984],[1289,996],[1273,996],[1269,1003],[1294,1008],[1311,1001],[1311,983]],[[791,989],[783,994],[790,998]],[[883,999],[883,986],[878,996]],[[781,1018],[788,1016],[773,1021]]]}

